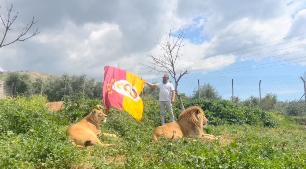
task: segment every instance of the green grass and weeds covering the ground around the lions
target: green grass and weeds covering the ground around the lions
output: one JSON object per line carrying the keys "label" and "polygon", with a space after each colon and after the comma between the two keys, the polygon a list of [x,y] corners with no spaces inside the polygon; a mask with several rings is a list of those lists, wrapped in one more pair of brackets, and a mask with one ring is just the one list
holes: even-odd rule
{"label": "green grass and weeds covering the ground around the lions", "polygon": [[[0,168],[304,168],[306,165],[304,126],[273,112],[276,128],[208,125],[204,132],[222,136],[221,141],[162,138],[154,142],[151,135],[159,125],[158,102],[145,98],[140,122],[124,111],[107,112],[109,119],[101,123],[101,130],[119,137],[99,136],[99,139],[115,146],[76,148],[67,140],[65,130],[80,118],[65,118],[69,114],[75,117],[76,109],[80,108],[70,106],[63,111],[48,112],[43,107],[45,102],[46,98],[41,96],[0,101]],[[88,100],[83,102],[94,105]],[[82,109],[77,114],[83,117],[87,113],[89,110]],[[8,120],[11,128],[5,126]],[[168,116],[166,121],[169,122]]]}

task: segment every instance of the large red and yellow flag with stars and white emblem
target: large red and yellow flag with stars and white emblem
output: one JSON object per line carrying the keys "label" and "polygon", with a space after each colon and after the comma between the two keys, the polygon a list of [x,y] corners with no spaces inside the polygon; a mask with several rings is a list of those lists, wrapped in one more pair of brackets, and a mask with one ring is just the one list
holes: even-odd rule
{"label": "large red and yellow flag with stars and white emblem", "polygon": [[145,81],[131,72],[116,67],[104,67],[103,102],[105,110],[115,106],[130,113],[137,121],[142,118],[144,102],[139,94]]}

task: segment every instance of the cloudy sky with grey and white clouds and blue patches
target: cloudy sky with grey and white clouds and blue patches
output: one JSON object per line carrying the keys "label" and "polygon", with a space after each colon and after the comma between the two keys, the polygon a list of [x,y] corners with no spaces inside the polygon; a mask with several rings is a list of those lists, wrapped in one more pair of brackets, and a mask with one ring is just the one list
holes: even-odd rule
{"label": "cloudy sky with grey and white clouds and blue patches", "polygon": [[[189,93],[197,79],[301,80],[306,71],[306,0],[0,0],[2,17],[7,18],[11,4],[19,13],[6,42],[32,17],[39,21],[30,31],[41,33],[0,48],[1,71],[103,79],[104,66],[119,66],[147,81],[160,81],[162,75],[140,63],[149,64],[148,53],[162,54],[156,42],[170,29],[174,36],[183,29],[186,33],[176,69],[190,71],[181,85],[192,88]],[[194,85],[183,85],[192,80]],[[222,81],[218,84],[222,88]]]}

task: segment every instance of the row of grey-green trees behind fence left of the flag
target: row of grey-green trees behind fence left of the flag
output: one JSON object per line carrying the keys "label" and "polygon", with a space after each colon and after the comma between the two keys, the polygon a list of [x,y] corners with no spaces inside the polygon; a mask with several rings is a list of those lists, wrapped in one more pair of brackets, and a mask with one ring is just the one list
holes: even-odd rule
{"label": "row of grey-green trees behind fence left of the flag", "polygon": [[0,77],[8,85],[13,85],[14,94],[17,95],[31,96],[42,92],[50,102],[55,102],[62,101],[64,96],[84,92],[88,98],[102,99],[103,82],[88,79],[86,75],[56,76],[26,71],[2,72]]}

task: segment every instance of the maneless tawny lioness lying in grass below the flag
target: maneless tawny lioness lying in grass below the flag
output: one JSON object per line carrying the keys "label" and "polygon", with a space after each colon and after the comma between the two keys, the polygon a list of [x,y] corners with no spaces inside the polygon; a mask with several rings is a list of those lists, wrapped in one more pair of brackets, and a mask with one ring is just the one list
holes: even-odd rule
{"label": "maneless tawny lioness lying in grass below the flag", "polygon": [[[99,126],[100,121],[106,122],[107,115],[102,110],[94,109],[82,121],[71,125],[67,129],[68,139],[73,140],[73,144],[77,147],[89,146],[99,144],[101,146],[109,147],[113,144],[103,144],[98,139],[98,135],[102,134]],[[103,133],[105,136],[117,137],[114,134]]]}

